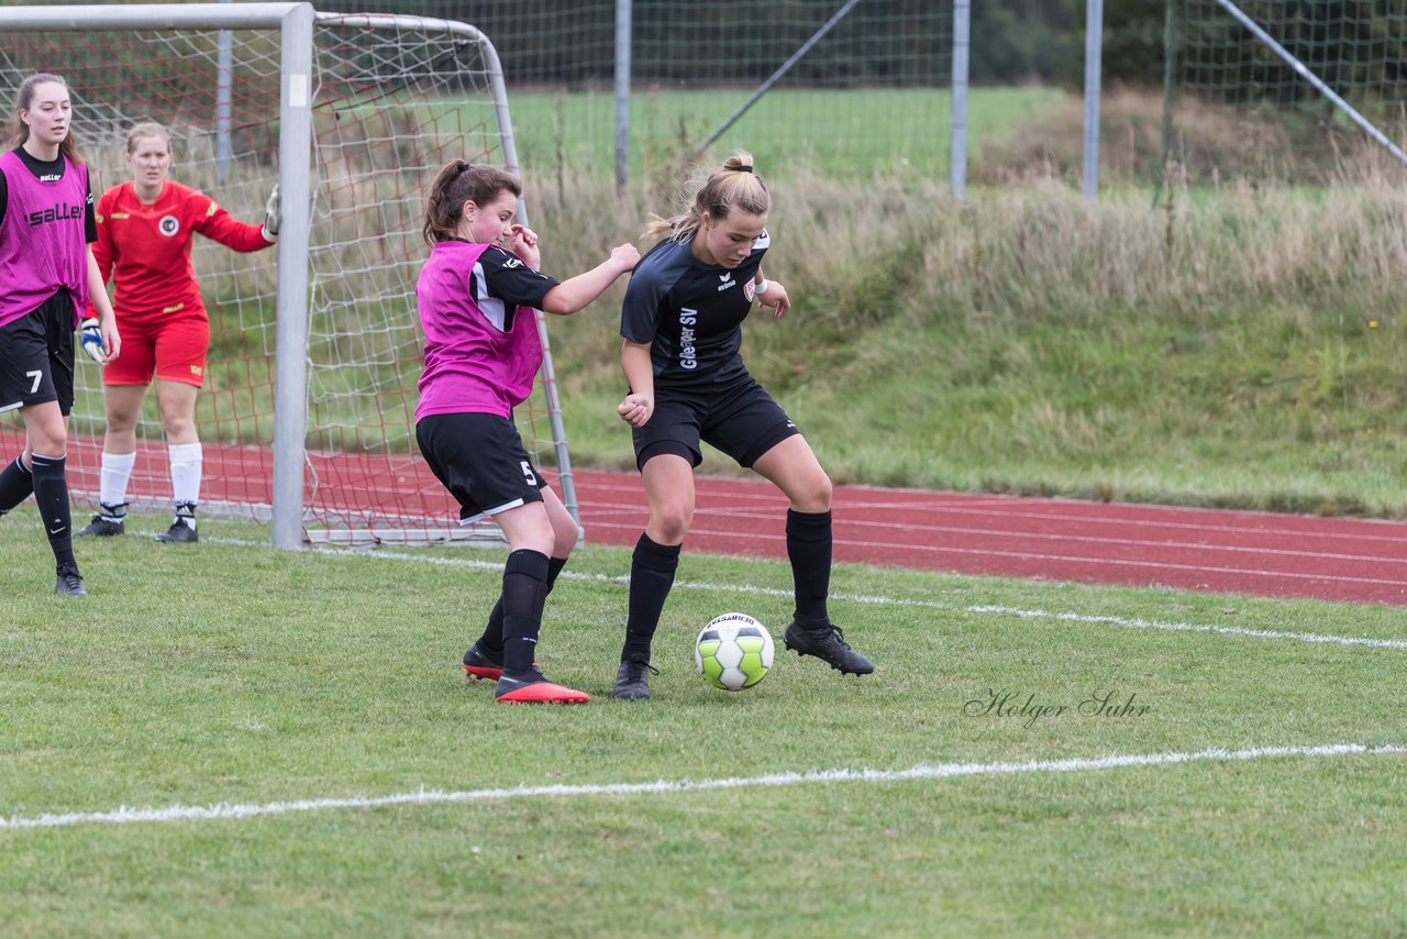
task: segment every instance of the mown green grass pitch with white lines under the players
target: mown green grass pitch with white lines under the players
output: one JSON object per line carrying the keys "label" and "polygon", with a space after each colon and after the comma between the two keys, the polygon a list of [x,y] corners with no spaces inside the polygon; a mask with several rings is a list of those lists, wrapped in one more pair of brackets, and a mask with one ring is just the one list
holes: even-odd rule
{"label": "mown green grass pitch with white lines under the players", "polygon": [[789,572],[687,555],[626,704],[629,556],[588,548],[539,659],[595,700],[514,708],[459,669],[501,552],[163,524],[82,543],[84,601],[0,522],[3,935],[1407,931],[1396,608],[840,566],[877,672],[729,694],[694,634],[779,636]]}

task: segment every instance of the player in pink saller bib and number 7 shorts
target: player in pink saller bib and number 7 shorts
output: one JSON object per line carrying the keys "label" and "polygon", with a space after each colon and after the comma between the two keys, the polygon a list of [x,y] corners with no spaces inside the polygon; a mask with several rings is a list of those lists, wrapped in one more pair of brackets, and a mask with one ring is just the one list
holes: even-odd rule
{"label": "player in pink saller bib and number 7 shorts", "polygon": [[121,348],[89,245],[93,191],[73,137],[68,83],[31,75],[20,84],[17,146],[0,153],[0,411],[20,411],[24,452],[0,470],[0,515],[31,493],[56,562],[55,591],[86,597],[73,557],[69,412],[73,329],[91,301],[82,341],[94,358]]}

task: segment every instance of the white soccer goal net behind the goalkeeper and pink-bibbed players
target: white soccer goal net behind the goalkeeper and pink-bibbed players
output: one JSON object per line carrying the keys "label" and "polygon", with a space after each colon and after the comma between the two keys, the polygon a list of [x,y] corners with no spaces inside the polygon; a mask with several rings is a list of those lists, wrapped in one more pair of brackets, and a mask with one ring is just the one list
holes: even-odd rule
{"label": "white soccer goal net behind the goalkeeper and pink-bibbed players", "polygon": [[[15,89],[34,72],[68,80],[94,197],[131,179],[127,132],[151,120],[170,132],[176,182],[236,218],[262,220],[288,159],[279,148],[279,30],[128,28],[100,11],[83,17],[82,28],[32,31],[11,28],[15,11],[0,8],[7,108],[13,114]],[[415,445],[422,336],[414,291],[429,251],[421,237],[425,196],[438,170],[456,158],[518,169],[497,53],[473,27],[386,15],[318,14],[312,46],[303,534],[336,542],[491,538],[457,525],[457,505]],[[269,519],[277,501],[276,362],[290,355],[276,342],[276,249],[242,255],[196,238],[193,263],[211,321],[197,407],[200,511]],[[69,484],[76,503],[96,505],[100,370],[80,356],[76,377]],[[563,473],[574,511],[550,351],[539,383],[542,393],[516,414],[519,429],[539,465]],[[138,425],[129,487],[136,507],[170,505],[155,398],[148,394]],[[14,455],[21,445],[23,425],[7,415],[0,446]]]}

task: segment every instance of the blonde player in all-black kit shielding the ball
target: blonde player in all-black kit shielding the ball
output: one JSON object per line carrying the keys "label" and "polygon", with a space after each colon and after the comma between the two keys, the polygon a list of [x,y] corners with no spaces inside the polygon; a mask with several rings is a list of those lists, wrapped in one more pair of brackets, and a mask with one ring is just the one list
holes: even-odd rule
{"label": "blonde player in all-black kit shielding the ball", "polygon": [[616,408],[630,424],[650,521],[630,565],[630,607],[615,697],[650,697],[650,641],[674,584],[694,519],[694,467],[706,441],[771,480],[791,507],[787,555],[796,611],[784,642],[841,673],[874,664],[826,614],[830,593],[830,477],[785,411],[747,373],[739,349],[756,297],[787,315],[787,289],[763,276],[767,186],[749,153],[733,153],[682,215],[656,220],[664,235],[636,265],[620,313],[620,367],[630,393]]}

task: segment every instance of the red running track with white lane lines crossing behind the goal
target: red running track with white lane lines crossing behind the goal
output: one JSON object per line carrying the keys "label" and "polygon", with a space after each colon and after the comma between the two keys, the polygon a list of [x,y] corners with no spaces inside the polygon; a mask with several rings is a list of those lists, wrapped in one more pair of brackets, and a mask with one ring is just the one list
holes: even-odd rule
{"label": "red running track with white lane lines crossing behind the goal", "polygon": [[[20,434],[0,429],[0,458],[21,446]],[[70,441],[79,497],[97,493],[100,449],[100,441]],[[457,515],[418,458],[312,455],[308,463],[307,491],[324,511],[397,505],[436,525]],[[267,450],[207,443],[204,497],[267,504],[270,466]],[[635,545],[646,522],[639,474],[578,469],[574,477],[587,541]],[[167,493],[165,446],[144,442],[132,494]],[[765,481],[701,476],[685,549],[782,557],[785,515],[787,498]],[[837,562],[1407,605],[1407,525],[1399,522],[865,486],[837,486],[834,515]]]}

